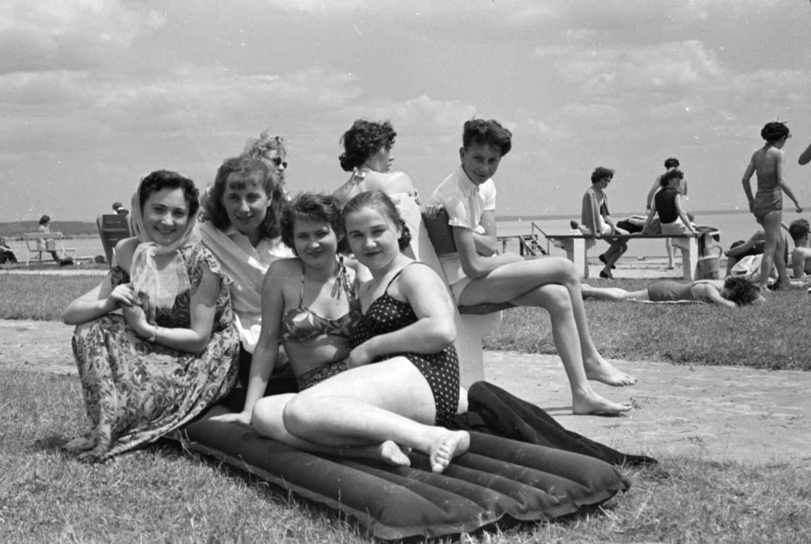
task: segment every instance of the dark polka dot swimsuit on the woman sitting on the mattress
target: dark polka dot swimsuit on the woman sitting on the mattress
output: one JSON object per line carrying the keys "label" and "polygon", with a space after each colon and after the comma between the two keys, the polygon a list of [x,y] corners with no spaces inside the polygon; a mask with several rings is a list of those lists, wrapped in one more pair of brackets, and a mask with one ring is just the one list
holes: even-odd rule
{"label": "dark polka dot swimsuit on the woman sitting on the mattress", "polygon": [[[400,272],[397,272],[397,276],[400,276]],[[383,295],[376,298],[358,320],[350,337],[353,348],[374,336],[398,331],[417,322],[417,315],[408,302],[400,302],[388,295],[392,281],[386,285]],[[407,358],[425,376],[434,395],[436,425],[448,426],[456,416],[459,405],[459,359],[456,347],[449,345],[439,353],[387,353],[375,362],[394,357]]]}

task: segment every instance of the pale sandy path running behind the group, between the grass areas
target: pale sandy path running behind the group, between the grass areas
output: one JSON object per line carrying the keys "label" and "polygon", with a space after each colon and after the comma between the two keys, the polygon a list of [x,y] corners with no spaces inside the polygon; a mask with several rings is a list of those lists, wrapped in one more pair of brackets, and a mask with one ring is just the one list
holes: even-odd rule
{"label": "pale sandy path running behind the group, between the grass areas", "polygon": [[[0,320],[0,373],[15,369],[75,375],[73,328]],[[563,426],[625,452],[686,453],[707,460],[811,468],[811,374],[727,366],[614,362],[637,385],[594,389],[633,401],[622,417],[575,416],[560,359],[486,352],[487,379],[534,402]]]}

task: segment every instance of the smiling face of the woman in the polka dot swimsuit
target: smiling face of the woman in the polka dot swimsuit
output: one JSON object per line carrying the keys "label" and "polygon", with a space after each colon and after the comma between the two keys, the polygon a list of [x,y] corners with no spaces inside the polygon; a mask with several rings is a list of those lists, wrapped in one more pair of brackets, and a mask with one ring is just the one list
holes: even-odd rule
{"label": "smiling face of the woman in the polka dot swimsuit", "polygon": [[375,208],[367,206],[346,214],[344,225],[355,259],[369,270],[385,268],[400,255],[400,227]]}

